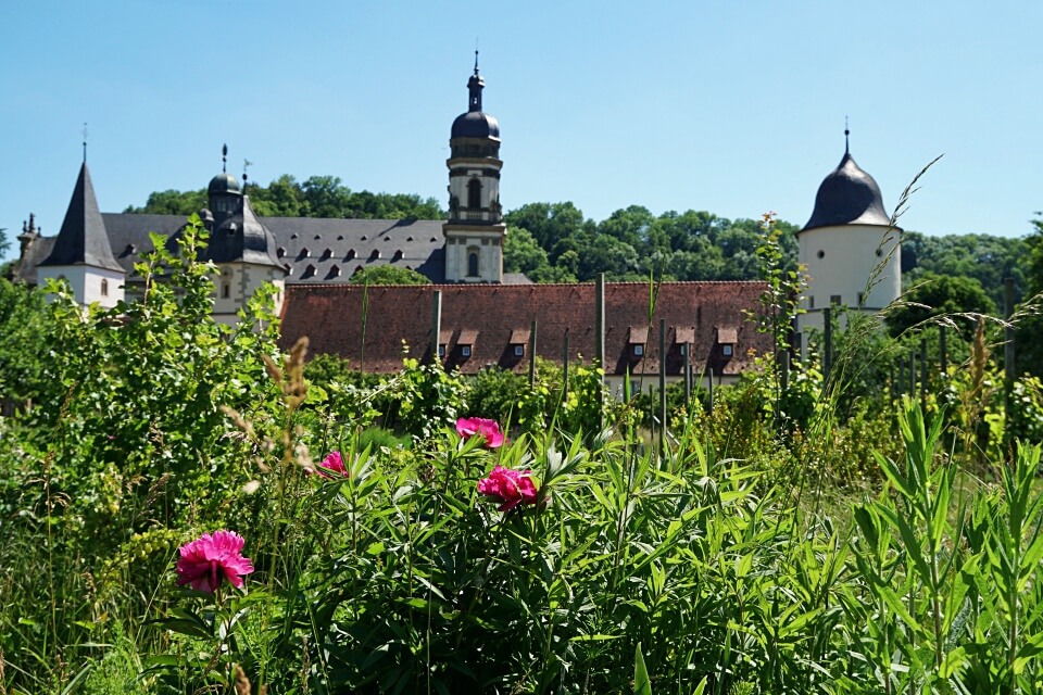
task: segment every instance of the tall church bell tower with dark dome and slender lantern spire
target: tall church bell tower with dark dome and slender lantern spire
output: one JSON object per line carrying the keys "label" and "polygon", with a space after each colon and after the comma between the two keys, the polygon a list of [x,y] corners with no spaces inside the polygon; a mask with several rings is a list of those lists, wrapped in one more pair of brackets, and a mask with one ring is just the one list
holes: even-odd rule
{"label": "tall church bell tower with dark dome and slender lantern spire", "polygon": [[500,205],[500,124],[481,110],[485,80],[478,72],[467,80],[467,112],[453,121],[450,132],[449,220],[445,235],[445,280],[503,280],[503,210]]}

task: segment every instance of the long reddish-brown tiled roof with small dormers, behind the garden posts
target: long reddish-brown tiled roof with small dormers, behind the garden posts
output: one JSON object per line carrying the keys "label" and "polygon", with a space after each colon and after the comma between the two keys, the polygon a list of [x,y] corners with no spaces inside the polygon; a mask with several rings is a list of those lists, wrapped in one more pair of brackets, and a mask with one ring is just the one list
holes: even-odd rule
{"label": "long reddish-brown tiled roof with small dormers, behind the garden posts", "polygon": [[[715,374],[737,375],[752,365],[753,355],[771,350],[770,337],[757,332],[746,312],[761,312],[762,282],[668,282],[659,288],[649,342],[643,356],[633,356],[631,329],[648,329],[649,286],[642,282],[605,287],[606,374],[657,375],[659,319],[667,325],[666,370],[683,371],[680,343],[693,343],[694,370],[709,366]],[[307,336],[312,354],[337,354],[356,368],[393,372],[402,367],[403,341],[410,354],[430,359],[433,292],[442,293],[441,332],[448,341],[444,364],[464,374],[488,365],[524,371],[527,356],[515,356],[518,336],[537,323],[537,354],[558,364],[568,337],[569,361],[594,356],[594,286],[582,285],[357,285],[287,286],[282,305],[282,345]],[[365,296],[365,300],[363,299]],[[363,313],[363,302],[367,311]],[[363,326],[365,345],[363,345]],[[718,332],[734,330],[733,355],[725,356]],[[463,356],[462,337],[473,340]],[[680,340],[680,342],[678,342]],[[363,350],[363,346],[365,350]],[[526,352],[528,348],[526,348]]]}

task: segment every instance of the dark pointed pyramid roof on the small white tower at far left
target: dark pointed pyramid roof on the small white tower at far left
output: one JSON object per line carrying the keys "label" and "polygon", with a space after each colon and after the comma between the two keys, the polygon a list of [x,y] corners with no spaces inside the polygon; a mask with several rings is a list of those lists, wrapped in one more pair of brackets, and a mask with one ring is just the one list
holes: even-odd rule
{"label": "dark pointed pyramid roof on the small white tower at far left", "polygon": [[87,162],[79,168],[73,198],[68,201],[65,219],[51,252],[38,265],[88,265],[106,270],[123,270],[109,245],[109,235],[98,210],[98,199],[87,170]]}

